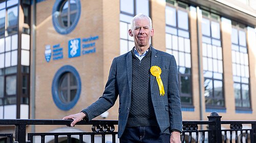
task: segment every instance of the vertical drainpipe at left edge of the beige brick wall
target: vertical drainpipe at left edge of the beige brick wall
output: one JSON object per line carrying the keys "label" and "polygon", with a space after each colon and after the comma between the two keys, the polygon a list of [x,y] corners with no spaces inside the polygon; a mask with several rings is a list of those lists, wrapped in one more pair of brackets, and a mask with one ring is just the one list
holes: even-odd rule
{"label": "vertical drainpipe at left edge of the beige brick wall", "polygon": [[[36,40],[36,0],[33,0],[33,21],[32,21],[32,69],[31,69],[31,119],[35,119],[35,40]],[[35,132],[35,125],[31,125],[31,132]]]}

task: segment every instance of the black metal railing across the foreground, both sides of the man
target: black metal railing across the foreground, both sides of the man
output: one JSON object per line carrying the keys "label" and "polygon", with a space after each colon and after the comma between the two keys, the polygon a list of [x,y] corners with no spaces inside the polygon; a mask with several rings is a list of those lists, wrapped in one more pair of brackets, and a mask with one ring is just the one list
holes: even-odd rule
{"label": "black metal railing across the foreground, both sides of the man", "polygon": [[[74,136],[79,136],[79,142],[83,142],[84,136],[90,136],[91,142],[95,142],[95,136],[100,135],[101,141],[105,142],[105,136],[112,136],[112,142],[116,140],[117,132],[115,126],[118,121],[93,120],[90,122],[81,121],[77,125],[90,125],[90,132],[54,132],[54,133],[26,133],[27,125],[62,125],[68,126],[72,120],[0,120],[0,125],[15,126],[15,141],[12,133],[0,134],[7,137],[7,142],[35,142],[34,137],[40,137],[40,142],[45,142],[47,136],[54,136],[54,142],[59,141],[59,137],[66,136],[67,142],[72,142]],[[243,127],[243,125],[247,127]],[[224,127],[229,126],[229,129]],[[223,127],[223,128],[222,128]],[[200,128],[200,129],[199,129]],[[27,136],[27,140],[26,140]],[[208,121],[183,121],[182,142],[251,142],[256,143],[256,121],[221,121],[221,116],[217,112],[212,112],[208,116]]]}

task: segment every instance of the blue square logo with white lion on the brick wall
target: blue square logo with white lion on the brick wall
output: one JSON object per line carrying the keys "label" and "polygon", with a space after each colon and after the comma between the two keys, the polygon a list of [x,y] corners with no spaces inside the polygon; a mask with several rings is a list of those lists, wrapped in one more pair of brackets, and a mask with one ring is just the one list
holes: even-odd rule
{"label": "blue square logo with white lion on the brick wall", "polygon": [[80,38],[69,40],[69,58],[80,56],[81,40]]}

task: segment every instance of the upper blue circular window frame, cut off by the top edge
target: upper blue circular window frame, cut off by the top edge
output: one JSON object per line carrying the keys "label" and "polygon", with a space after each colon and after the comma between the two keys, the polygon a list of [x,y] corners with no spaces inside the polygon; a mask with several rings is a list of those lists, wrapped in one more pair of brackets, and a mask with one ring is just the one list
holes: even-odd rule
{"label": "upper blue circular window frame, cut off by the top edge", "polygon": [[59,34],[62,34],[62,35],[66,35],[66,34],[69,34],[71,33],[79,19],[80,19],[80,15],[81,15],[81,3],[80,3],[80,0],[76,0],[76,6],[77,6],[77,14],[76,14],[76,17],[75,17],[75,20],[74,20],[74,23],[71,24],[70,27],[68,28],[63,28],[60,24],[59,24],[59,20],[58,20],[58,16],[55,15],[55,13],[59,13],[60,11],[60,6],[62,5],[62,3],[64,3],[66,0],[56,0],[54,6],[53,6],[53,10],[52,10],[52,23],[53,23],[53,26],[55,28],[55,30],[59,33]]}

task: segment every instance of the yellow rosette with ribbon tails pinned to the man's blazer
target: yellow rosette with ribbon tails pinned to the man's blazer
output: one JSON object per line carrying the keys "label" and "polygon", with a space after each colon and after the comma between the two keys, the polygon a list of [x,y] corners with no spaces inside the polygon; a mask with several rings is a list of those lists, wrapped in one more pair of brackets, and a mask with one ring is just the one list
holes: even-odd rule
{"label": "yellow rosette with ribbon tails pinned to the man's blazer", "polygon": [[160,74],[162,73],[161,68],[158,66],[152,66],[150,68],[150,72],[153,76],[156,76],[156,78],[157,78],[157,84],[159,87],[160,96],[164,96],[165,93],[164,93],[164,88],[163,88],[163,82],[162,82],[162,79],[160,76]]}

